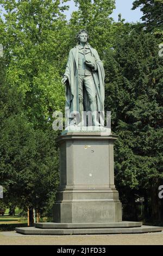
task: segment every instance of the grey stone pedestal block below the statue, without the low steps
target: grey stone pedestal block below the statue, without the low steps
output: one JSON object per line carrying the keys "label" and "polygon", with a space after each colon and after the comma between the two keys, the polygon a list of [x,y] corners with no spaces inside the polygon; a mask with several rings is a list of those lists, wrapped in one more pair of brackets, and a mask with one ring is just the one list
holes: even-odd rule
{"label": "grey stone pedestal block below the statue, without the low steps", "polygon": [[55,223],[122,221],[122,206],[114,185],[115,135],[70,132],[60,146],[60,187],[54,204]]}

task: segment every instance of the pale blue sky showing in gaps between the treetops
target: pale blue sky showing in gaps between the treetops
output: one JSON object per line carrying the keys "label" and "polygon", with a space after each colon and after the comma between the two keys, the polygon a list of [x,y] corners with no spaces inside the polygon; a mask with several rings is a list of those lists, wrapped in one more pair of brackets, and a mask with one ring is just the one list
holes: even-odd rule
{"label": "pale blue sky showing in gaps between the treetops", "polygon": [[[116,9],[111,15],[115,21],[118,21],[118,14],[122,14],[122,19],[125,19],[126,22],[136,22],[141,21],[140,18],[142,13],[139,8],[136,10],[131,10],[134,0],[116,0]],[[70,20],[71,13],[74,10],[77,10],[77,7],[74,6],[73,0],[67,2],[70,5],[70,9],[66,11],[67,19]]]}

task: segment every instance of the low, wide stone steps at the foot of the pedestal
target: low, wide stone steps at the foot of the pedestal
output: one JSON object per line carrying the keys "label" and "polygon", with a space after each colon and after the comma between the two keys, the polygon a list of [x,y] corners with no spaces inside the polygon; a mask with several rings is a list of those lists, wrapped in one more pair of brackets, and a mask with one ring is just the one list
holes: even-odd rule
{"label": "low, wide stone steps at the foot of the pedestal", "polygon": [[37,227],[16,228],[24,235],[91,235],[137,234],[162,231],[162,227],[141,225],[141,222],[117,223],[37,223]]}

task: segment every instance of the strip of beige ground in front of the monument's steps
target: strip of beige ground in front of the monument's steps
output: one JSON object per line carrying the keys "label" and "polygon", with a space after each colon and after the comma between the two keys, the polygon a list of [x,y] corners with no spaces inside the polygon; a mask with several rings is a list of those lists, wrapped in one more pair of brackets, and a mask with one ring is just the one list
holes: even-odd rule
{"label": "strip of beige ground in front of the monument's steps", "polygon": [[0,232],[0,245],[163,245],[163,231],[133,235],[31,236]]}

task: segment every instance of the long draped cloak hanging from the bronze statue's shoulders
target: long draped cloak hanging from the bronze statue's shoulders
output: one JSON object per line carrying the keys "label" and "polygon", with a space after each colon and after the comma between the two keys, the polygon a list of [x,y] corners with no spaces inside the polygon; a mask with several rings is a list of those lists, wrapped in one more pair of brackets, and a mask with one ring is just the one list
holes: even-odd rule
{"label": "long draped cloak hanging from the bronze statue's shoulders", "polygon": [[[93,80],[96,87],[96,101],[97,101],[97,111],[104,111],[104,99],[105,99],[105,89],[104,89],[104,79],[105,72],[102,61],[99,59],[97,51],[90,45],[91,55],[95,57],[97,71],[93,71]],[[66,109],[67,117],[70,117],[72,112],[79,112],[79,92],[78,92],[78,45],[70,50],[68,61],[66,65],[66,71],[64,76],[68,77],[66,84]],[[83,99],[84,99],[84,111],[90,110],[89,99],[86,90],[83,89]]]}

